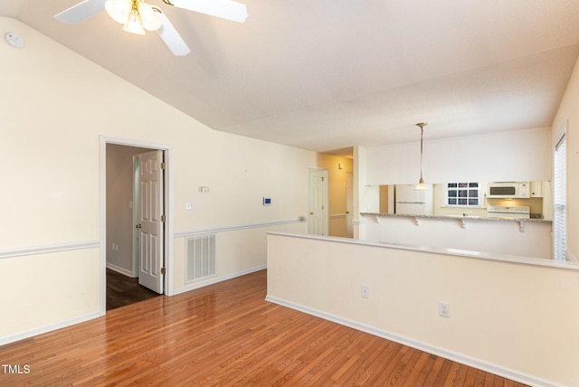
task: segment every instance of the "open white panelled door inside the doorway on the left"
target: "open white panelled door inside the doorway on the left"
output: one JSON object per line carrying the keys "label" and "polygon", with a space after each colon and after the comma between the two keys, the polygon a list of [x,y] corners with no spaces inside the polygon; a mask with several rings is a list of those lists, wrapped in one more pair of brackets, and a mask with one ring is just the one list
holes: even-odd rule
{"label": "open white panelled door inside the doorway on the left", "polygon": [[139,268],[138,283],[163,293],[164,185],[163,151],[138,155],[139,184]]}

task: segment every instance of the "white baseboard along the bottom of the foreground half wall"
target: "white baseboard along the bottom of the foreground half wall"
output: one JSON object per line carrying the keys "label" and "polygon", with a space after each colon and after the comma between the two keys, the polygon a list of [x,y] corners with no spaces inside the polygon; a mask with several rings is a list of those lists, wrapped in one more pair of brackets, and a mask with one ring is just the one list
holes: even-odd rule
{"label": "white baseboard along the bottom of the foreground half wall", "polygon": [[546,381],[544,379],[539,379],[536,376],[529,375],[527,373],[520,373],[515,370],[508,369],[501,365],[495,363],[485,362],[474,357],[470,357],[464,354],[459,354],[453,351],[449,351],[447,349],[441,348],[435,345],[429,345],[426,343],[422,343],[417,340],[413,340],[410,337],[406,337],[403,335],[397,335],[392,332],[387,332],[382,329],[375,328],[374,326],[366,326],[365,324],[358,323],[356,321],[348,320],[346,318],[342,318],[340,316],[335,316],[326,312],[322,312],[318,309],[312,307],[304,307],[299,304],[295,304],[293,302],[278,298],[278,297],[271,297],[266,296],[265,300],[271,302],[273,304],[280,305],[282,307],[289,307],[291,309],[298,310],[303,313],[307,313],[311,316],[317,316],[319,318],[323,318],[327,321],[334,322],[341,326],[348,326],[350,328],[356,329],[361,332],[365,332],[370,335],[375,335],[378,337],[382,337],[386,340],[394,341],[395,343],[399,343],[402,345],[410,346],[420,351],[426,352],[428,354],[435,354],[437,356],[441,356],[445,359],[449,359],[453,362],[461,363],[469,365],[470,367],[477,368],[479,370],[485,371],[487,373],[493,373],[498,376],[502,376],[504,378],[508,378],[510,380],[516,382],[522,382],[531,386],[544,386],[544,387],[558,387],[561,384],[557,384],[555,382]]}

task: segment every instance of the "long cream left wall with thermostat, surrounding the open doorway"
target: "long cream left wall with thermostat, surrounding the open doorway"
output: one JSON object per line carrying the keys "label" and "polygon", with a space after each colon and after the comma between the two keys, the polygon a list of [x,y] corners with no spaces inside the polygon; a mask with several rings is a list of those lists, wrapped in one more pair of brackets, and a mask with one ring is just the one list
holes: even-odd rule
{"label": "long cream left wall with thermostat, surrounding the open doorway", "polygon": [[[181,249],[189,233],[233,230],[219,236],[216,278],[227,278],[265,266],[267,224],[305,231],[297,220],[315,153],[213,131],[14,19],[0,26],[26,42],[20,50],[0,44],[0,70],[9,74],[0,79],[8,187],[0,203],[10,220],[0,224],[0,283],[11,291],[0,299],[10,316],[0,322],[0,344],[100,314],[101,137],[170,148],[177,292],[192,286]],[[263,206],[263,196],[274,204]]]}

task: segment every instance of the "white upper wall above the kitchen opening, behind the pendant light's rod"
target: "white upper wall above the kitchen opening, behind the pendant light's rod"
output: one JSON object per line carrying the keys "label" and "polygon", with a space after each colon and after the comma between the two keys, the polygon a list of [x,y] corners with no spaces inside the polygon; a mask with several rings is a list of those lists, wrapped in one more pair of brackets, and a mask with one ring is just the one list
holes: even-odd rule
{"label": "white upper wall above the kitchen opening, behind the pendant light's rod", "polygon": [[[550,181],[550,138],[549,127],[433,140],[425,134],[424,180]],[[420,143],[366,147],[365,167],[367,185],[418,183]]]}

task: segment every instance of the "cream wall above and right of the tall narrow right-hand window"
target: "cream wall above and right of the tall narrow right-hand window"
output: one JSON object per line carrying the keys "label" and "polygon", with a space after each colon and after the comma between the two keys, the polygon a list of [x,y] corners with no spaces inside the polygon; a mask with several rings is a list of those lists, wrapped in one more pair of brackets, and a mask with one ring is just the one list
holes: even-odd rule
{"label": "cream wall above and right of the tall narrow right-hand window", "polygon": [[567,250],[579,260],[579,61],[565,91],[559,110],[553,121],[551,139],[552,149],[559,139],[567,121],[567,137],[565,142],[567,154]]}

